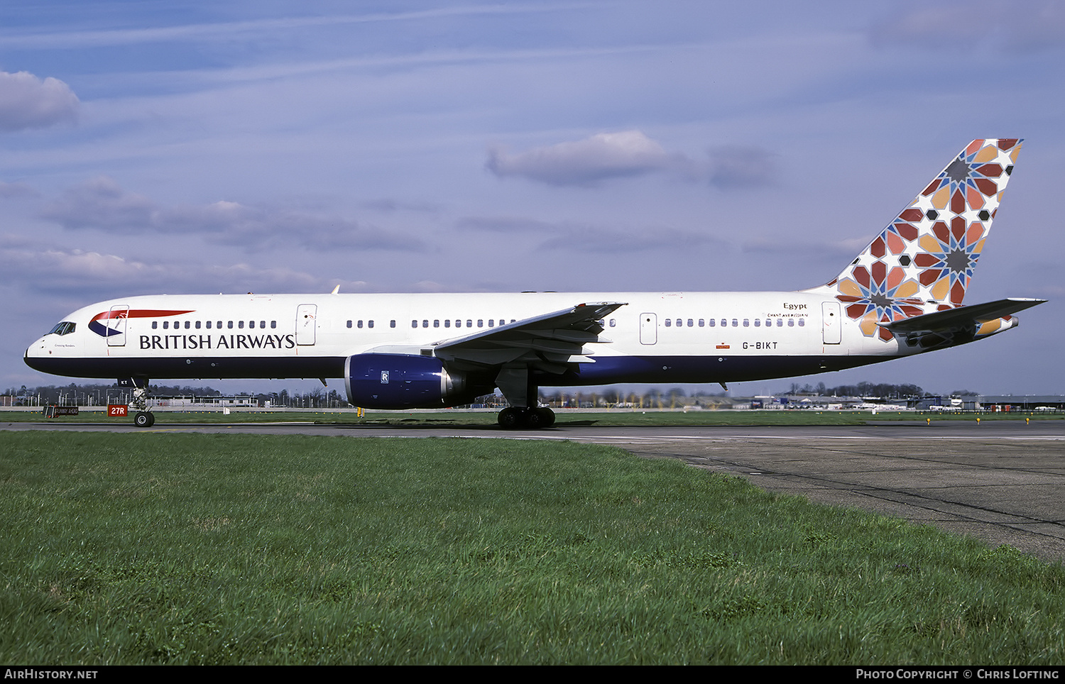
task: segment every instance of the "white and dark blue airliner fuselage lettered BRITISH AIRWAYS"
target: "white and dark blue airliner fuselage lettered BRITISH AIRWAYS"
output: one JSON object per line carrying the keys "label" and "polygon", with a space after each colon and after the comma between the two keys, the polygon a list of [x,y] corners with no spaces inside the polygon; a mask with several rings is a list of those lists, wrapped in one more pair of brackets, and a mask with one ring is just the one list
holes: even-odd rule
{"label": "white and dark blue airliner fuselage lettered BRITISH AIRWAYS", "polygon": [[81,308],[64,319],[71,332],[39,338],[26,361],[84,378],[339,378],[355,354],[432,355],[438,343],[589,301],[625,305],[577,372],[543,384],[735,382],[920,351],[861,334],[836,299],[809,293],[181,295]]}

